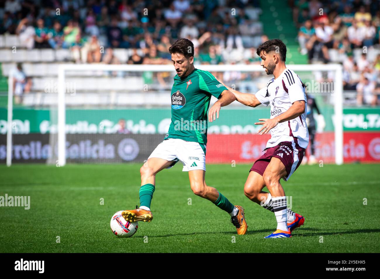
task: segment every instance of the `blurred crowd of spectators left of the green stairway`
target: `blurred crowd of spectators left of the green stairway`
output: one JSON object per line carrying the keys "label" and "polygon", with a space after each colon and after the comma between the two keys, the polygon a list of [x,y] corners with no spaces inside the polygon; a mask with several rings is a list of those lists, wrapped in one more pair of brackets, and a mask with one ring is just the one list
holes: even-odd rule
{"label": "blurred crowd of spectators left of the green stairway", "polygon": [[[257,0],[223,3],[224,6],[218,0],[6,0],[0,34],[19,35],[27,49],[70,48],[77,62],[119,63],[112,49],[144,50],[142,57],[134,52],[128,61],[131,64],[170,63],[168,47],[178,38],[188,38],[195,45],[199,62],[226,63],[220,55],[222,50],[253,47],[252,41],[244,42],[244,36],[260,36],[260,28],[251,28],[257,20],[245,13],[247,8],[258,6]],[[236,12],[231,13],[230,6]],[[101,52],[100,47],[104,49]]]}

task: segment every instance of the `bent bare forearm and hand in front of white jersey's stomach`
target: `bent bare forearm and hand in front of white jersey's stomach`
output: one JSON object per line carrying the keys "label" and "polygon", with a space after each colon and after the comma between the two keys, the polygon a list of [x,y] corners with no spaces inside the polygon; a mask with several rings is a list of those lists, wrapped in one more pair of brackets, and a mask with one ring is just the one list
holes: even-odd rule
{"label": "bent bare forearm and hand in front of white jersey's stomach", "polygon": [[267,134],[269,130],[277,126],[277,124],[299,117],[305,112],[305,104],[306,102],[303,100],[295,101],[286,112],[281,113],[272,119],[259,119],[259,121],[263,122],[256,122],[255,125],[263,125],[263,127],[261,127],[257,133],[260,135]]}

